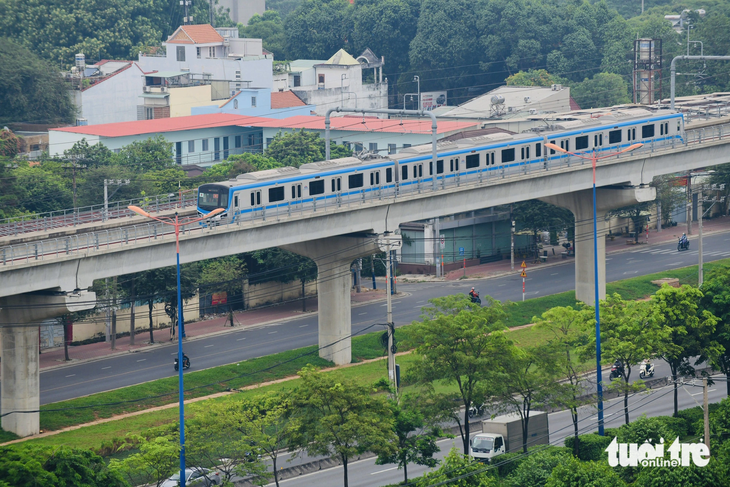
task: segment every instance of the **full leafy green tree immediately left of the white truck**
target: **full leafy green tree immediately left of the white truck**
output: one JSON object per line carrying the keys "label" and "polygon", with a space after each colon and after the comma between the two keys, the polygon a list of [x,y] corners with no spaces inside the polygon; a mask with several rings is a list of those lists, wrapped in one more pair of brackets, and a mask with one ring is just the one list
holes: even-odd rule
{"label": "full leafy green tree immediately left of the white truck", "polygon": [[[482,404],[492,385],[491,378],[504,365],[502,355],[509,345],[502,330],[506,313],[499,301],[483,298],[474,304],[464,294],[433,298],[433,307],[423,308],[423,321],[415,323],[414,379],[431,394],[443,414],[456,421],[464,453],[469,453],[469,407]],[[435,392],[434,382],[455,385],[456,392]],[[464,407],[463,422],[456,404]]]}

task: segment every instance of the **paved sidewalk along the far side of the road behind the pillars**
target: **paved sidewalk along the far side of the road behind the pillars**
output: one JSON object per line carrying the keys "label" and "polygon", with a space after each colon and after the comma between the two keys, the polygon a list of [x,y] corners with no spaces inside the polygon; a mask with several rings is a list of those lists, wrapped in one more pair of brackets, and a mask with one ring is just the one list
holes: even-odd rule
{"label": "paved sidewalk along the far side of the road behind the pillars", "polygon": [[[656,230],[649,231],[649,244],[663,244],[667,242],[675,242],[677,237],[675,235],[681,235],[682,232],[687,230],[686,224],[683,226],[676,226],[664,229],[662,232],[657,233]],[[703,234],[708,235],[712,233],[718,233],[723,231],[730,231],[730,217],[719,217],[712,220],[705,220],[703,222]],[[697,240],[697,224],[692,225],[692,234],[689,236],[690,241]],[[634,245],[627,245],[625,237],[617,237],[613,241],[606,241],[606,253],[623,252],[632,250],[635,248]],[[646,234],[643,234],[639,238],[640,245],[646,245]],[[696,242],[693,242],[693,246],[696,248]],[[548,251],[547,262],[533,264],[532,258],[527,259],[528,270],[537,267],[546,267],[558,265],[561,262],[566,263],[567,261],[574,260],[573,257],[563,259],[561,252],[565,249],[561,246],[553,247],[546,246],[544,250]],[[489,264],[482,264],[478,266],[472,266],[466,268],[466,277],[469,279],[483,279],[486,277],[497,277],[507,275],[513,272],[520,271],[521,258],[515,256],[515,270],[510,269],[510,261],[508,259],[501,260],[499,262],[491,262]],[[454,270],[446,275],[446,281],[455,281],[464,276],[462,269]],[[409,279],[409,277],[411,279]],[[400,276],[399,280],[402,282],[412,281],[442,281],[441,279],[435,279],[432,276]],[[363,282],[368,282],[363,279]],[[372,301],[378,301],[385,299],[385,283],[382,278],[378,279],[378,284],[382,287],[376,291],[367,291],[362,293],[351,293],[352,304],[357,303],[368,303]],[[307,299],[307,313],[317,312],[317,298],[312,297]],[[198,321],[195,323],[185,324],[185,335],[188,340],[194,340],[203,336],[210,336],[221,333],[228,333],[231,330],[235,330],[238,327],[250,327],[250,326],[261,326],[269,323],[277,323],[285,320],[294,319],[302,315],[302,303],[301,301],[285,303],[281,305],[267,306],[264,308],[254,309],[250,311],[241,311],[234,313],[235,327],[224,326],[227,321],[227,316],[216,316],[211,319]],[[144,319],[140,316],[140,319]],[[137,352],[143,350],[149,350],[151,347],[157,347],[161,345],[167,345],[172,340],[170,337],[170,329],[164,328],[161,330],[154,331],[154,344],[149,343],[149,332],[138,331],[135,336],[134,346],[130,346],[129,337],[118,338],[116,341],[116,350],[110,350],[110,344],[108,342],[97,342],[88,345],[79,345],[75,347],[69,347],[69,357],[71,361],[66,362],[64,360],[63,347],[52,348],[43,350],[40,359],[40,368],[48,369],[51,367],[60,367],[68,364],[76,364],[80,361],[89,361],[100,358],[109,357],[112,355],[125,354],[130,352]]]}

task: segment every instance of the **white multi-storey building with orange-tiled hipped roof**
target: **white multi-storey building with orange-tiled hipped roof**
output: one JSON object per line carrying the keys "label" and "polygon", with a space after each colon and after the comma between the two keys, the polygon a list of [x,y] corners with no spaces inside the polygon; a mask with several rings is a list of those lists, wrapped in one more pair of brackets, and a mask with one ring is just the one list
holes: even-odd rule
{"label": "white multi-storey building with orange-tiled hipped roof", "polygon": [[239,39],[236,27],[182,25],[163,46],[164,54],[139,54],[139,65],[146,73],[187,71],[231,81],[233,92],[272,86],[273,55],[263,50],[261,39]]}

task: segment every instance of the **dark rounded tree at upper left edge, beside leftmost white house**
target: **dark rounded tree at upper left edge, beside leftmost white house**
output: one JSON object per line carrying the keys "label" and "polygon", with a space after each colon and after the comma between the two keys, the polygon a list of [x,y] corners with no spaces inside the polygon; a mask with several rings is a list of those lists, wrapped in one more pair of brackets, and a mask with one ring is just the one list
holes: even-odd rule
{"label": "dark rounded tree at upper left edge, beside leftmost white house", "polygon": [[[19,6],[27,5],[27,2],[11,0],[0,2],[0,32],[4,35],[10,35],[10,32],[2,25],[8,20],[3,10],[7,8],[7,4],[16,3]],[[6,38],[0,38],[0,76],[3,80],[3,89],[0,90],[0,124],[53,124],[73,120],[74,107],[68,97],[66,84],[57,70],[33,52]]]}

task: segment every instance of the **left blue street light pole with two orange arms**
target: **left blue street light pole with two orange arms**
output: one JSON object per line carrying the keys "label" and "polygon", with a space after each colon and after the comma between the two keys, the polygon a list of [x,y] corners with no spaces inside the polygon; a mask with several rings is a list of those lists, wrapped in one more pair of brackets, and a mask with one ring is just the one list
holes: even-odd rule
{"label": "left blue street light pole with two orange arms", "polygon": [[179,410],[180,410],[180,485],[182,487],[185,487],[185,388],[183,387],[183,351],[182,351],[182,333],[180,332],[180,326],[182,325],[182,291],[180,289],[180,227],[183,225],[190,225],[192,223],[197,223],[202,220],[207,220],[208,218],[215,216],[223,211],[225,211],[224,208],[216,208],[215,210],[211,211],[207,215],[201,218],[185,218],[184,220],[181,220],[175,212],[175,219],[173,220],[170,217],[156,217],[152,216],[146,211],[144,211],[142,208],[139,208],[137,206],[128,206],[131,211],[137,213],[138,215],[151,218],[152,220],[158,221],[160,223],[164,223],[165,225],[170,225],[175,227],[175,253],[176,253],[176,261],[177,261],[177,325],[178,325],[178,334],[177,334],[177,364],[178,364],[178,396],[180,400]]}

